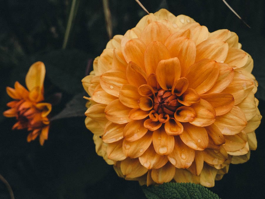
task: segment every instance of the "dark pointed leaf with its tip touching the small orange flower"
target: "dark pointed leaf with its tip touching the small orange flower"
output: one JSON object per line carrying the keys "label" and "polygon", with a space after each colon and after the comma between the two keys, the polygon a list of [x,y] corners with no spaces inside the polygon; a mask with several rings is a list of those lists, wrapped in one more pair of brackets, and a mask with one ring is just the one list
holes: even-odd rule
{"label": "dark pointed leaf with its tip touching the small orange flower", "polygon": [[85,116],[85,103],[86,100],[83,98],[84,94],[77,94],[70,100],[66,107],[60,112],[58,115],[51,118],[51,121],[62,119],[62,118],[71,118],[71,117],[78,117],[78,116]]}

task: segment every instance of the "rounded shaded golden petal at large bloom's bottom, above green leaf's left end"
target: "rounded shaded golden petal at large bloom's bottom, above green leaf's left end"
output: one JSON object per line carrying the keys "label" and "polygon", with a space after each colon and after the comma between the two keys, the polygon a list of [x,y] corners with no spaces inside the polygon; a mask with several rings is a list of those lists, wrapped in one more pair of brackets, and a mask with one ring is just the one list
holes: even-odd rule
{"label": "rounded shaded golden petal at large bloom's bottom, above green leaf's left end", "polygon": [[175,176],[175,167],[170,163],[166,163],[165,166],[159,169],[152,169],[151,177],[159,184],[170,182]]}

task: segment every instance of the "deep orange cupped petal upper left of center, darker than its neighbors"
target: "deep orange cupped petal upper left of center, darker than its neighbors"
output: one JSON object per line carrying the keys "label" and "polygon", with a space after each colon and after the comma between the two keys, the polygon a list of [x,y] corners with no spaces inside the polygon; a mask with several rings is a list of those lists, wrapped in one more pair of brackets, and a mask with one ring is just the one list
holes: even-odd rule
{"label": "deep orange cupped petal upper left of center, darker than its neighbors", "polygon": [[137,87],[147,83],[145,71],[132,61],[130,61],[127,65],[126,77],[130,84]]}

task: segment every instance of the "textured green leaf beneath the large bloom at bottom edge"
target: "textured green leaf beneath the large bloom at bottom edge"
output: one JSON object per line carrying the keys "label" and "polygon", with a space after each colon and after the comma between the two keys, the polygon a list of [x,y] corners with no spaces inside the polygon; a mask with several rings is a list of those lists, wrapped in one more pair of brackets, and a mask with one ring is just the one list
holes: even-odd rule
{"label": "textured green leaf beneath the large bloom at bottom edge", "polygon": [[218,199],[218,195],[207,188],[194,183],[163,183],[162,185],[142,186],[147,198],[179,198],[179,199]]}

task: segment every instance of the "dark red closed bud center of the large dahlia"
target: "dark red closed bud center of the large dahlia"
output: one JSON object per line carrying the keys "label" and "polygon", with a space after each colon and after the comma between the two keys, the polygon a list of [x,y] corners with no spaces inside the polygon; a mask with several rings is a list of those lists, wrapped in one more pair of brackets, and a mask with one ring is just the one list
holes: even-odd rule
{"label": "dark red closed bud center of the large dahlia", "polygon": [[173,116],[180,103],[178,96],[172,95],[171,91],[159,90],[154,98],[154,110],[158,113],[165,113]]}

